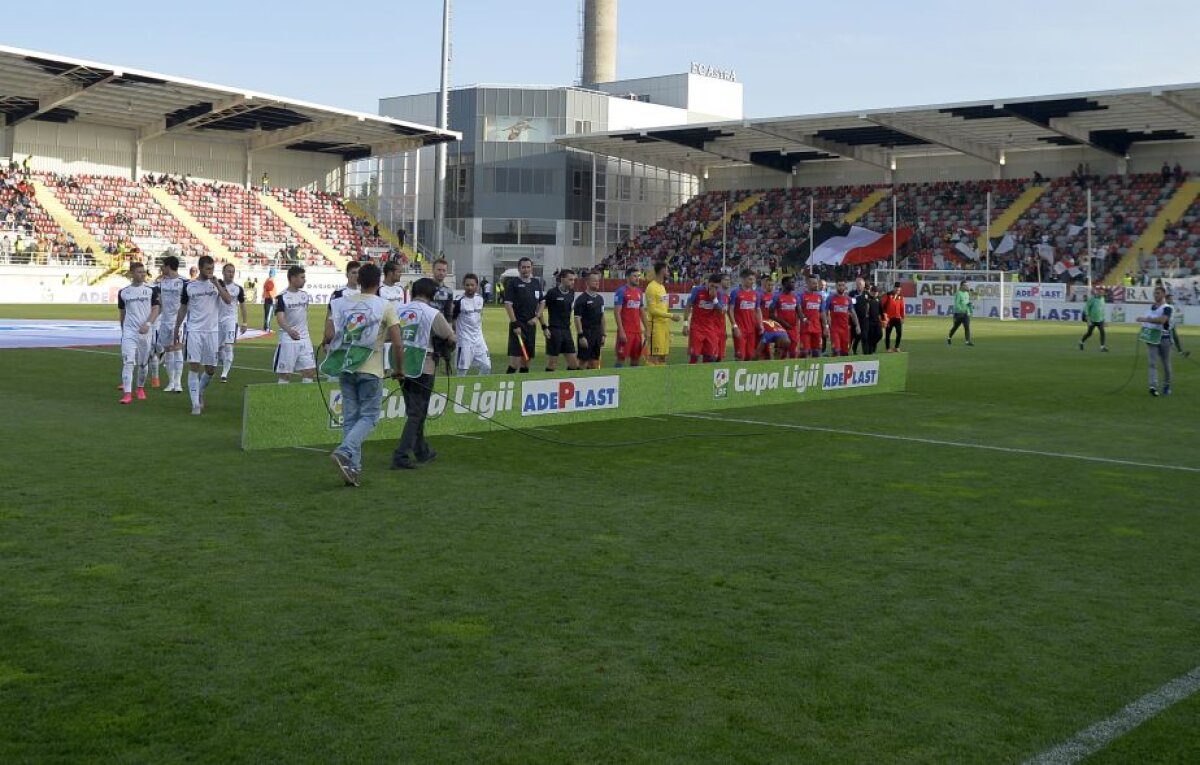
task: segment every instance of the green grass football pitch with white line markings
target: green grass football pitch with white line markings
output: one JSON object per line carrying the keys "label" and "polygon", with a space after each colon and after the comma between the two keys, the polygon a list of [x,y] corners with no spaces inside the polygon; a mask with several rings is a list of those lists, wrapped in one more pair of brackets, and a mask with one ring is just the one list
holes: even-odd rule
{"label": "green grass football pitch with white line markings", "polygon": [[[905,394],[722,415],[823,430],[371,444],[360,489],[238,450],[270,341],[202,417],[119,406],[113,349],[0,351],[0,761],[1032,757],[1200,664],[1200,365],[1154,399],[1132,330],[947,329],[910,320]],[[1093,759],[1200,760],[1200,697]]]}

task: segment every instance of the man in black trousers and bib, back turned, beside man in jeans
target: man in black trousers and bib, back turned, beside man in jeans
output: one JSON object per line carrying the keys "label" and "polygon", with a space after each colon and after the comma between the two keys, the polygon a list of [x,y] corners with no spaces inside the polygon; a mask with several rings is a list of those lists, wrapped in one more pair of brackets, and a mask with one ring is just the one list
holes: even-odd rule
{"label": "man in black trousers and bib, back turned, beside man in jeans", "polygon": [[416,279],[410,293],[413,300],[400,309],[404,353],[396,368],[404,377],[404,432],[391,454],[392,470],[409,470],[431,463],[438,456],[425,440],[425,418],[430,412],[433,373],[437,369],[433,341],[438,339],[440,348],[452,351],[458,338],[445,314],[432,305],[437,291],[438,283],[433,279]]}

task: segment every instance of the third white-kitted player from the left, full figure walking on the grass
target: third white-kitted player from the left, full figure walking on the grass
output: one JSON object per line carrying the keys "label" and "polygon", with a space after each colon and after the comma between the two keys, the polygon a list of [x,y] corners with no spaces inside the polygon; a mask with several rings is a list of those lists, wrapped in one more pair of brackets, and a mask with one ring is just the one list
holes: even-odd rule
{"label": "third white-kitted player from the left, full figure walking on the grass", "polygon": [[[217,371],[217,348],[221,345],[221,319],[217,306],[229,305],[229,290],[212,275],[216,264],[211,255],[202,255],[196,279],[184,285],[175,317],[175,342],[184,339],[181,327],[187,319],[187,392],[192,394],[192,414],[204,411],[204,390]],[[204,368],[203,374],[200,368]]]}

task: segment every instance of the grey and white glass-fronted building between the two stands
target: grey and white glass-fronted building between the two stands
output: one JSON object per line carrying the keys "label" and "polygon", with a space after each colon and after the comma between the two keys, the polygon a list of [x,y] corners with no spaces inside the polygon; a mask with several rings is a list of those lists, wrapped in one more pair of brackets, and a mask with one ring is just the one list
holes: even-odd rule
{"label": "grey and white glass-fronted building between the two stands", "polygon": [[[694,66],[682,74],[574,86],[474,85],[450,92],[444,254],[456,272],[494,277],[522,257],[552,272],[582,266],[700,191],[688,171],[577,151],[556,137],[740,119],[742,85]],[[701,73],[708,72],[708,73]],[[383,98],[379,113],[434,120],[437,94]],[[379,217],[433,240],[433,151],[364,163]],[[353,186],[353,183],[352,183]],[[352,191],[352,193],[354,193]]]}

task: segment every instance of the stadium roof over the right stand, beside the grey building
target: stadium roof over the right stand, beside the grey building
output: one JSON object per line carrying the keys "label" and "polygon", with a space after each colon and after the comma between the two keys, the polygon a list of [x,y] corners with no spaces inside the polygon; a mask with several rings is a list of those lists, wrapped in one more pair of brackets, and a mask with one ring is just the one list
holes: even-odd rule
{"label": "stadium roof over the right stand, beside the grey building", "polygon": [[1009,152],[1090,146],[1127,157],[1135,144],[1200,135],[1200,84],[899,109],[733,120],[560,135],[559,144],[701,175],[760,165],[791,173],[805,162],[968,155],[1003,164]]}

